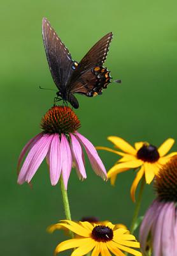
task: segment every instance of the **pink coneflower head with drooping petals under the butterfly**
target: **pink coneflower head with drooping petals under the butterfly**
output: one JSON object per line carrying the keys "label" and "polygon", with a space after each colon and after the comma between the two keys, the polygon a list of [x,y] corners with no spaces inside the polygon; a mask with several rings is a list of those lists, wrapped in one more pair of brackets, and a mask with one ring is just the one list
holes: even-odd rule
{"label": "pink coneflower head with drooping petals under the butterfly", "polygon": [[45,157],[50,168],[52,186],[57,184],[62,173],[64,186],[67,189],[72,166],[76,167],[80,179],[86,179],[82,146],[87,152],[94,172],[106,180],[106,170],[96,148],[77,131],[80,127],[80,121],[71,108],[53,106],[49,109],[41,120],[43,131],[32,138],[20,154],[18,170],[25,153],[29,151],[18,175],[18,183],[31,182]]}

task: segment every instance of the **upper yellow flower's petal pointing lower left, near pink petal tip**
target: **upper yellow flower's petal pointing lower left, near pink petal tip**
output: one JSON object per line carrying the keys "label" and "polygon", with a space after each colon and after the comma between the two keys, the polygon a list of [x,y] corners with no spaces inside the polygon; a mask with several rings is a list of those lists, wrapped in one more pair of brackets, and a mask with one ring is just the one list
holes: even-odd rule
{"label": "upper yellow flower's petal pointing lower left, near pink petal tip", "polygon": [[143,161],[141,161],[139,159],[137,159],[135,161],[129,161],[126,163],[115,164],[115,166],[113,166],[108,172],[108,179],[112,175],[116,175],[120,172],[125,172],[131,168],[138,168],[139,166],[141,166],[141,164],[143,164]]}

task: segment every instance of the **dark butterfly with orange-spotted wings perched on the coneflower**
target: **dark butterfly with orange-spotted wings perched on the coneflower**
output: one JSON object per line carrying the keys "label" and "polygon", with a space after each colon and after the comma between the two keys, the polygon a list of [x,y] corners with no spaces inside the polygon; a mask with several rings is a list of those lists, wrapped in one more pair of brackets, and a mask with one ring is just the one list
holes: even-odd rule
{"label": "dark butterfly with orange-spotted wings perched on the coneflower", "polygon": [[[50,72],[59,90],[55,102],[62,99],[69,102],[73,108],[79,108],[74,93],[87,97],[101,95],[112,78],[103,63],[113,34],[103,36],[78,63],[72,60],[70,52],[46,18],[43,18],[42,33]],[[116,82],[120,83],[120,80]]]}

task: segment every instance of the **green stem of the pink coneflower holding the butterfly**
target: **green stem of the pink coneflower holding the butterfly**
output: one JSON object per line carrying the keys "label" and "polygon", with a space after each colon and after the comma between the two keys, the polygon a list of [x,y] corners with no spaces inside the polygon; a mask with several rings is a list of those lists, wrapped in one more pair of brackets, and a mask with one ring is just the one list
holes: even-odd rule
{"label": "green stem of the pink coneflower holding the butterfly", "polygon": [[[64,205],[64,212],[65,212],[66,220],[71,220],[71,211],[69,208],[69,200],[68,200],[68,196],[67,196],[67,190],[64,187],[62,175],[60,177],[60,186],[61,186],[61,191],[62,191],[62,202]],[[69,234],[71,235],[72,238],[74,237],[73,232],[70,231]]]}

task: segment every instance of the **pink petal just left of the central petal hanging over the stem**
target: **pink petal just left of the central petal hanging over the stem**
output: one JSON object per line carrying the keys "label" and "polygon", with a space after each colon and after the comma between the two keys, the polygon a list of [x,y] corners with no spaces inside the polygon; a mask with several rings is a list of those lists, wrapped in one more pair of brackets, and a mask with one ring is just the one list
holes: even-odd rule
{"label": "pink petal just left of the central petal hanging over the stem", "polygon": [[49,165],[50,165],[50,180],[52,186],[55,186],[60,178],[61,173],[61,154],[59,134],[54,134],[50,145]]}

